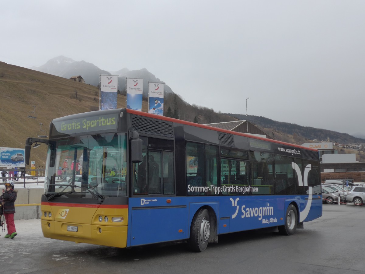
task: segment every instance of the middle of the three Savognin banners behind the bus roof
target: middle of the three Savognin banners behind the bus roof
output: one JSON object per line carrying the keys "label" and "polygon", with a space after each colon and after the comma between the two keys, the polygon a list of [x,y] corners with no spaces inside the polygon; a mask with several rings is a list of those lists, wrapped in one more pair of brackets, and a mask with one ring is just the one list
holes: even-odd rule
{"label": "middle of the three Savognin banners behind the bus roof", "polygon": [[143,79],[126,79],[126,108],[142,111]]}

